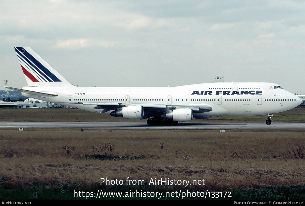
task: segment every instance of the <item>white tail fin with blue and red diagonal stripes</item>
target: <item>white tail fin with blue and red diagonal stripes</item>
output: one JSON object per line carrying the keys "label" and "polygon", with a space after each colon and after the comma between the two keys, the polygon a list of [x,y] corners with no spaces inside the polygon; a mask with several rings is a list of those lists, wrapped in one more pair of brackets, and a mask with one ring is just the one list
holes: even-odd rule
{"label": "white tail fin with blue and red diagonal stripes", "polygon": [[18,46],[15,51],[28,86],[72,87],[73,85],[43,60],[30,47]]}

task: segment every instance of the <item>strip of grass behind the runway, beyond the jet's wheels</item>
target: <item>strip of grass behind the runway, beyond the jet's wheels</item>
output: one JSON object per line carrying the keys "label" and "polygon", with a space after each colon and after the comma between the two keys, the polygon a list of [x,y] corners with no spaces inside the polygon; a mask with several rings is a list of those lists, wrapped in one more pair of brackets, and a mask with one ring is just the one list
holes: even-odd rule
{"label": "strip of grass behind the runway, beyond the jet's wheels", "polygon": [[[265,122],[267,115],[214,116],[210,119],[193,119],[192,122]],[[305,122],[305,107],[274,114],[274,122]],[[124,119],[71,108],[1,108],[0,121],[38,122],[146,122],[146,119]]]}

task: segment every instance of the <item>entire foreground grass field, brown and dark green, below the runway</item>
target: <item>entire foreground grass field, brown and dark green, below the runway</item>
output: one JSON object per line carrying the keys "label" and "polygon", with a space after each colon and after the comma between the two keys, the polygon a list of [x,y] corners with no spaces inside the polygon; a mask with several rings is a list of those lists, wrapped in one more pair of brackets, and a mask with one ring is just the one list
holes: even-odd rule
{"label": "entire foreground grass field, brown and dark green, below the runway", "polygon": [[[305,130],[1,129],[0,199],[85,199],[74,197],[74,190],[102,189],[123,193],[230,191],[231,197],[225,199],[303,200],[304,135]],[[146,184],[100,184],[100,178],[127,177]],[[205,185],[148,185],[151,178],[204,179]]]}

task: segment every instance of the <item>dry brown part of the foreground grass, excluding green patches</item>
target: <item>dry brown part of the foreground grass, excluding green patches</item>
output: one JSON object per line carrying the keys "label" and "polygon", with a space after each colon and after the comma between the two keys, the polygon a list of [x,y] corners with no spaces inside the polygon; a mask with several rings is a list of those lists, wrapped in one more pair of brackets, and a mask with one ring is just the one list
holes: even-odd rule
{"label": "dry brown part of the foreground grass, excluding green patches", "polygon": [[[305,184],[305,160],[291,155],[293,149],[305,146],[303,132],[1,129],[0,185],[96,184],[105,177],[205,179],[205,188]],[[112,151],[107,149],[109,144]],[[149,156],[138,160],[79,158],[94,153]]]}

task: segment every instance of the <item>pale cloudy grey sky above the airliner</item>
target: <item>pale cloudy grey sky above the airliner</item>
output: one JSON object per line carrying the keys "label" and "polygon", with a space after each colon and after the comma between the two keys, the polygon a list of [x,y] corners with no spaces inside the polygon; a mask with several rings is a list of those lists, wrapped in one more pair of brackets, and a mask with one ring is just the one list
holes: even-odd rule
{"label": "pale cloudy grey sky above the airliner", "polygon": [[0,81],[29,46],[79,86],[272,82],[305,94],[305,1],[0,0]]}

